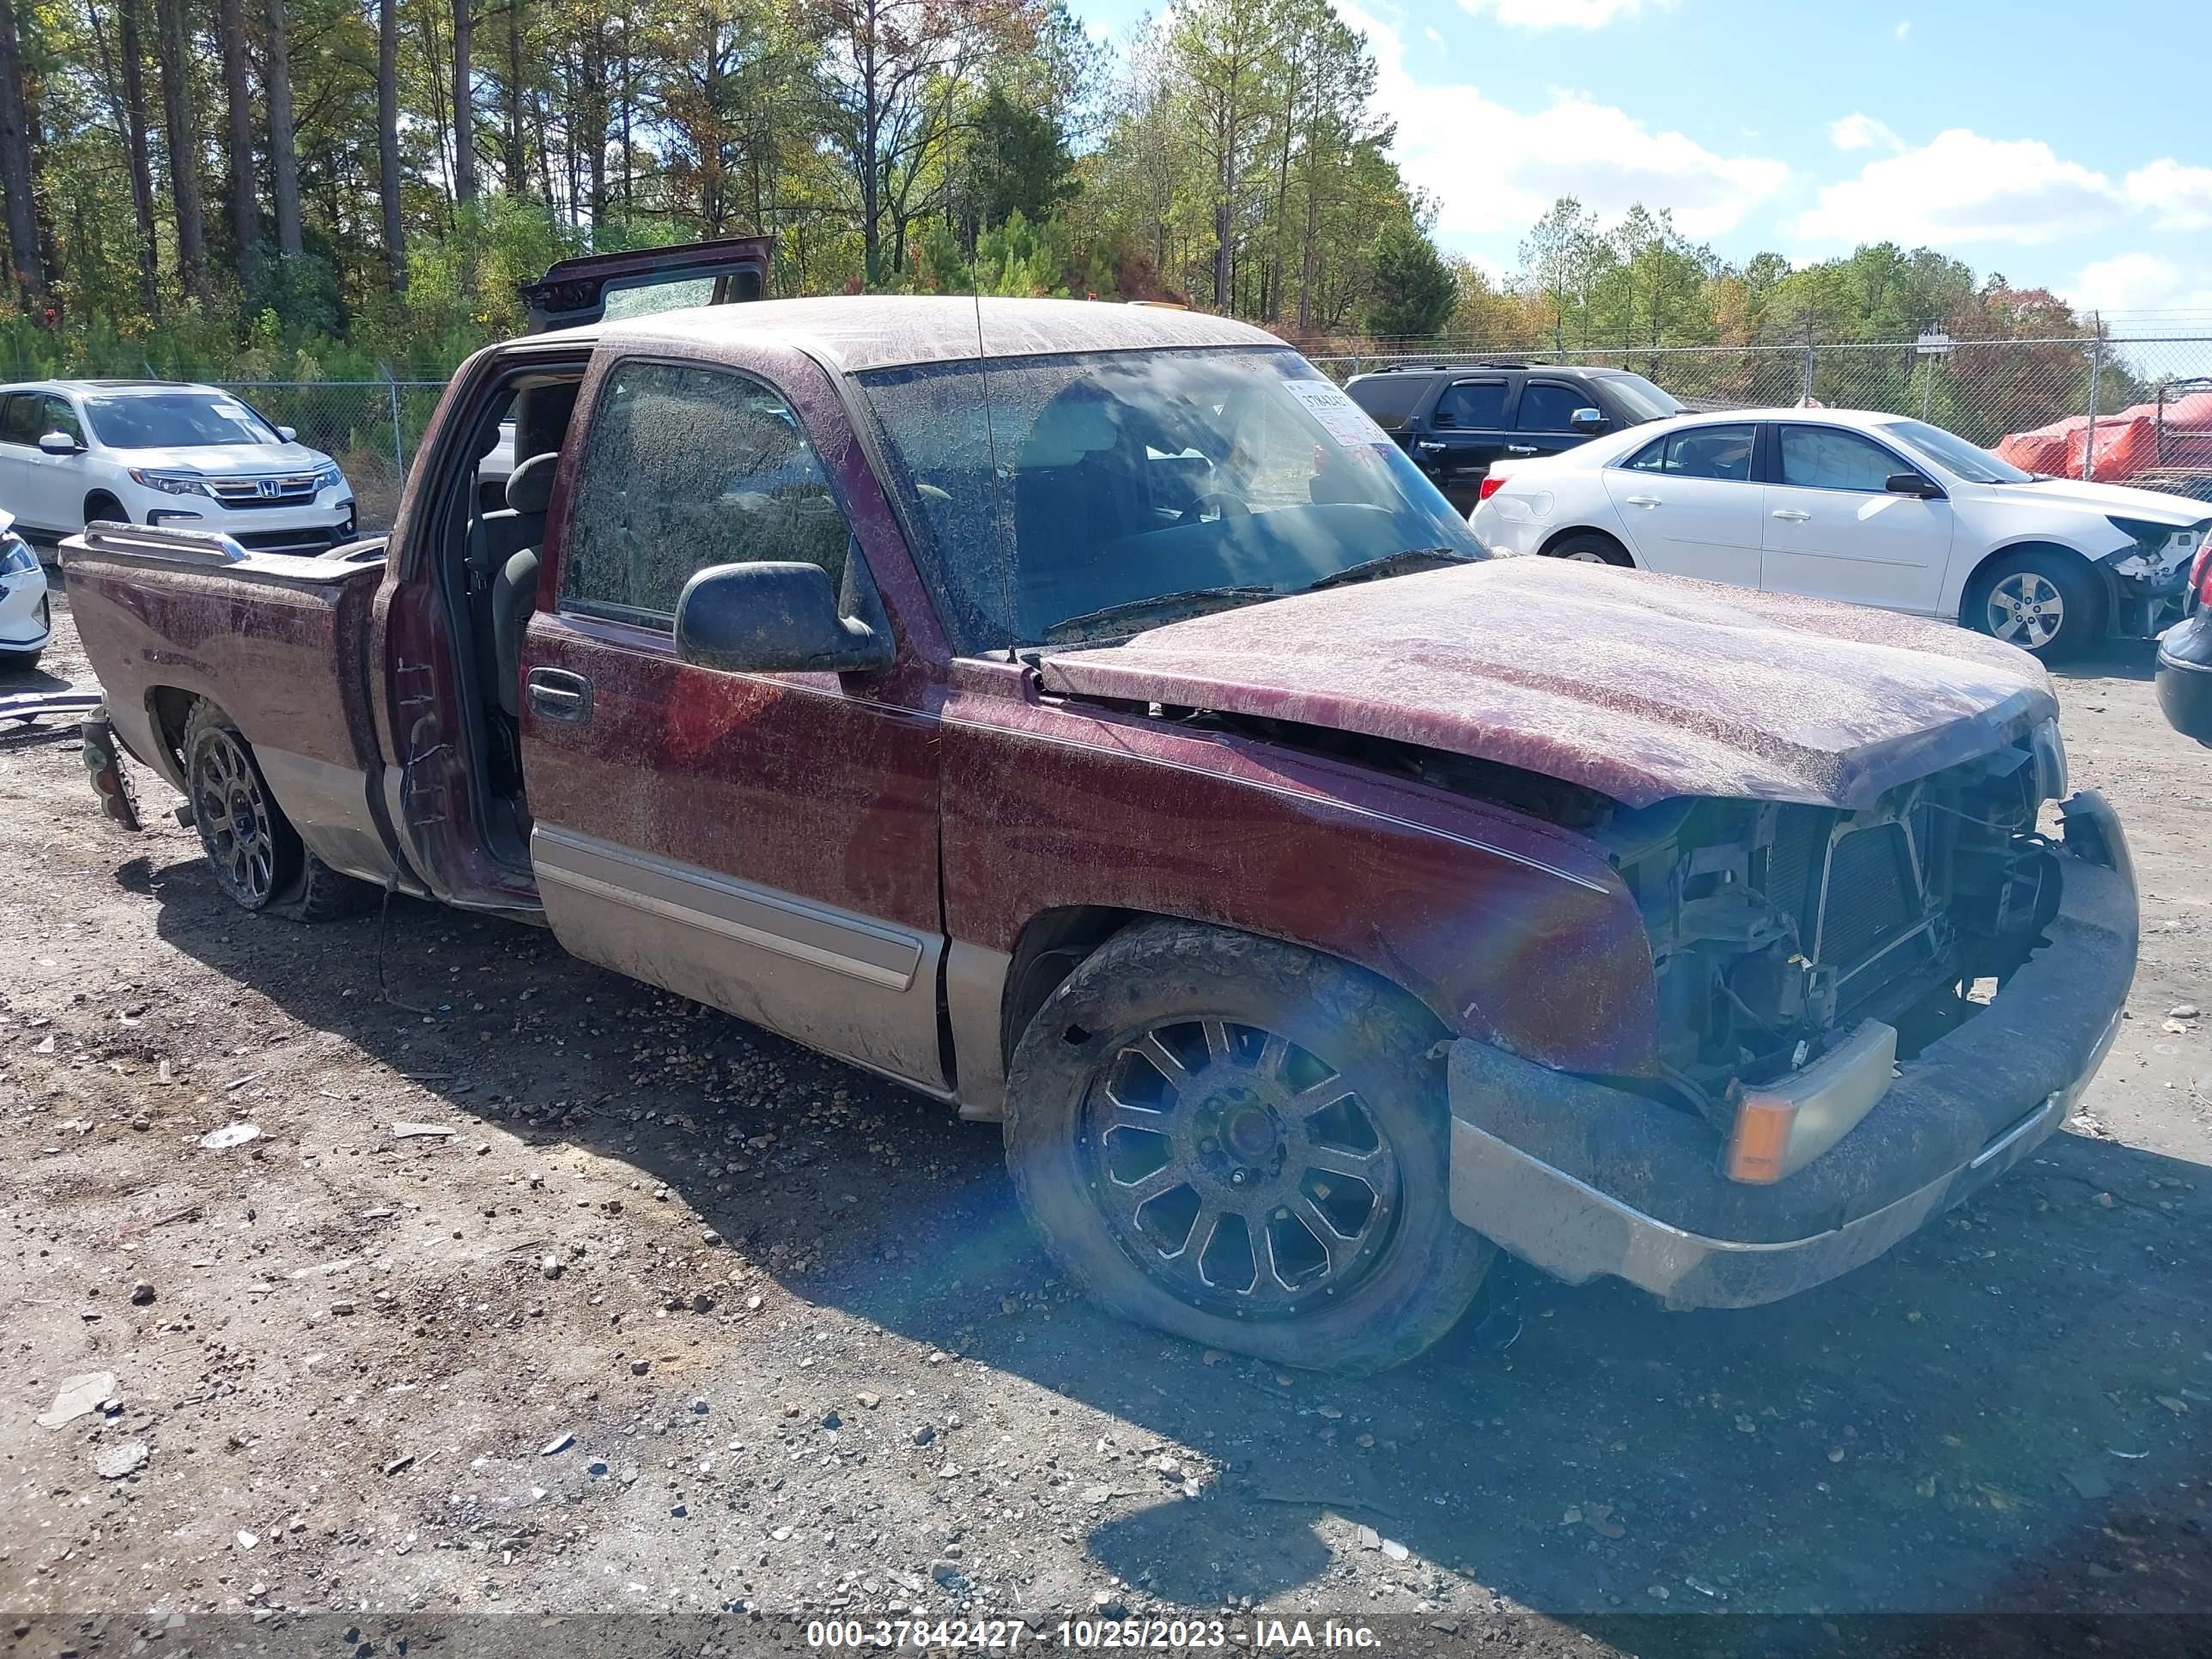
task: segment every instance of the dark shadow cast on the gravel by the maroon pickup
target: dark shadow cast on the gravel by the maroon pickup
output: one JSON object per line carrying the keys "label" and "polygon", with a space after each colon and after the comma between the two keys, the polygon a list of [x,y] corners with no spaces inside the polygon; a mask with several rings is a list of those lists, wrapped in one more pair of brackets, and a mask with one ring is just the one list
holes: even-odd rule
{"label": "dark shadow cast on the gravel by the maroon pickup", "polygon": [[[2201,1166],[2059,1135],[1885,1261],[1778,1307],[1663,1314],[1506,1263],[1491,1336],[1515,1316],[1522,1332],[1502,1352],[1462,1329],[1365,1383],[1208,1365],[1075,1296],[1004,1312],[1051,1265],[995,1128],[529,927],[394,900],[383,971],[403,1011],[376,998],[374,916],[248,922],[199,863],[137,860],[122,880],[159,896],[177,949],[396,1071],[445,1073],[427,1086],[456,1113],[626,1159],[754,1259],[796,1241],[818,1265],[794,1296],[1217,1455],[1228,1473],[1201,1502],[1161,1486],[1088,1533],[1104,1568],[1161,1597],[1356,1610],[1376,1573],[1427,1595],[1449,1568],[1593,1630],[1628,1613],[2212,1613]],[[641,1062],[675,1053],[681,1079]],[[714,1104],[737,1057],[765,1057],[785,1099]],[[803,1128],[838,1088],[867,1137],[898,1139],[896,1179],[858,1133],[787,1133],[754,1186],[717,1197],[701,1135],[657,1121],[686,1113],[717,1141]],[[1409,1557],[1360,1553],[1354,1524]],[[1705,1619],[1657,1628],[1644,1650],[1741,1646]]]}

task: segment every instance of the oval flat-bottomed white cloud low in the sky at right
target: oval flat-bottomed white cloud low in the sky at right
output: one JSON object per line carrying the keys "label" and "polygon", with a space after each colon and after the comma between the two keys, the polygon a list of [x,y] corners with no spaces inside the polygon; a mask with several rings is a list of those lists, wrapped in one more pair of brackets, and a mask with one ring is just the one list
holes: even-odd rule
{"label": "oval flat-bottomed white cloud low in the sky at right", "polygon": [[1823,186],[1796,232],[1823,243],[2037,246],[2104,230],[2126,208],[2106,175],[2062,161],[2039,139],[1953,126],[1918,150],[1869,161],[1856,179]]}

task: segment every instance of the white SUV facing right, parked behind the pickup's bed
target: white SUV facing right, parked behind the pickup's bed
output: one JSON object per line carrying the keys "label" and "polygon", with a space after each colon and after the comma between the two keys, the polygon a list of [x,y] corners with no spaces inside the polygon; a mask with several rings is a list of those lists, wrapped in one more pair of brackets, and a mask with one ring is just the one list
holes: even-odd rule
{"label": "white SUV facing right, parked behind the pickup's bed", "polygon": [[270,553],[354,535],[354,491],[330,456],[228,392],[175,380],[0,387],[0,511],[40,542],[97,518],[221,531]]}

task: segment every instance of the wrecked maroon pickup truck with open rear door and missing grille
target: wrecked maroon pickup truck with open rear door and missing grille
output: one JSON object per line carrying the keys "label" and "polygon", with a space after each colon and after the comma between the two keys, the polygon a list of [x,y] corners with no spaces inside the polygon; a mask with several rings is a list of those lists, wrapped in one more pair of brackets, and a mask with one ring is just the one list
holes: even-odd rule
{"label": "wrecked maroon pickup truck with open rear door and missing grille", "polygon": [[2135,883],[2026,655],[1489,560],[1214,316],[604,303],[761,257],[555,272],[575,325],[460,369],[385,542],[66,549],[237,902],[542,922],[1002,1121],[1113,1310],[1347,1371],[1498,1248],[1832,1279],[2097,1068]]}

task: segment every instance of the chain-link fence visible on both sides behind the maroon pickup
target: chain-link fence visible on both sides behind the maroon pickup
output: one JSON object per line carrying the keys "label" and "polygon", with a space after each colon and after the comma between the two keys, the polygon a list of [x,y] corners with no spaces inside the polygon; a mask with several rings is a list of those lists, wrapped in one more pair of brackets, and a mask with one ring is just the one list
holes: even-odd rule
{"label": "chain-link fence visible on both sides behind the maroon pickup", "polygon": [[[1657,345],[1588,352],[1451,347],[1316,356],[1336,380],[1391,365],[1579,363],[1635,369],[1692,409],[1816,403],[1949,427],[2033,471],[2126,478],[2212,500],[2212,334],[1878,345]],[[365,531],[385,529],[442,380],[230,380],[345,471]],[[2026,438],[2024,438],[2026,436]],[[2006,442],[2011,440],[2011,442]]]}

